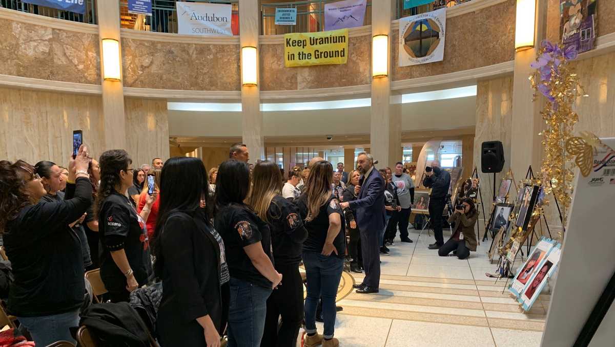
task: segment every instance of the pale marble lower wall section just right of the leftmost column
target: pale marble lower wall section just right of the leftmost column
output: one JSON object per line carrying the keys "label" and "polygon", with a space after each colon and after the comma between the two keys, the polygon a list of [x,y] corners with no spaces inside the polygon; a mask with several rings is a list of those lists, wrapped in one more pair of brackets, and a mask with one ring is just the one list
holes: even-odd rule
{"label": "pale marble lower wall section just right of the leftmost column", "polygon": [[124,98],[126,150],[135,167],[169,159],[169,116],[162,99]]}

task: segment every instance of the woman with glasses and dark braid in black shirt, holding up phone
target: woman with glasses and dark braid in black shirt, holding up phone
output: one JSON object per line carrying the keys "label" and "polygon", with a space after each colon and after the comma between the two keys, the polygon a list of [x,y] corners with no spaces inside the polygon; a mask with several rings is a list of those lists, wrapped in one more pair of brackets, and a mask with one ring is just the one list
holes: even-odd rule
{"label": "woman with glasses and dark braid in black shirt, holding up phone", "polygon": [[[152,274],[145,219],[126,197],[132,160],[123,149],[100,155],[100,190],[94,207],[100,236],[100,277],[111,302],[128,302],[130,292]],[[149,197],[153,202],[155,194]]]}

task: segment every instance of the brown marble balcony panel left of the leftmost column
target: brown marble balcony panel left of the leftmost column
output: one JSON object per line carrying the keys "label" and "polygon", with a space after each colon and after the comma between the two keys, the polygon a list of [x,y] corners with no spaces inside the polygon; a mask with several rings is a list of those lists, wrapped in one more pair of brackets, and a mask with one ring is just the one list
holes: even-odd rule
{"label": "brown marble balcony panel left of the leftmost column", "polygon": [[0,74],[100,84],[98,36],[0,18]]}

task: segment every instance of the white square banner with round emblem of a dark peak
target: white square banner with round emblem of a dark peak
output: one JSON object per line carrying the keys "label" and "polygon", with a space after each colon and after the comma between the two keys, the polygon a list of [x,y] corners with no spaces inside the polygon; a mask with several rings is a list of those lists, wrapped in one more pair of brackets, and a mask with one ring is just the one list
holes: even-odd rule
{"label": "white square banner with round emblem of a dark peak", "polygon": [[399,66],[434,63],[444,58],[446,9],[399,19]]}

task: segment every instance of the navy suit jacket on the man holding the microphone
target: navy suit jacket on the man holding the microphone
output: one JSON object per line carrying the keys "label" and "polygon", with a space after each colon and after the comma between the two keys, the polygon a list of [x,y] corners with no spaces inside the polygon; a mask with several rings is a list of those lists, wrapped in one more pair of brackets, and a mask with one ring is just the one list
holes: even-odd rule
{"label": "navy suit jacket on the man holding the microphone", "polygon": [[350,208],[355,211],[359,229],[363,232],[380,232],[384,229],[384,179],[376,168],[368,177],[359,179],[361,190],[357,200],[349,201]]}

